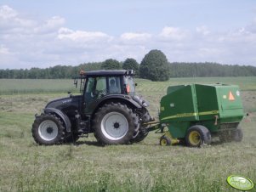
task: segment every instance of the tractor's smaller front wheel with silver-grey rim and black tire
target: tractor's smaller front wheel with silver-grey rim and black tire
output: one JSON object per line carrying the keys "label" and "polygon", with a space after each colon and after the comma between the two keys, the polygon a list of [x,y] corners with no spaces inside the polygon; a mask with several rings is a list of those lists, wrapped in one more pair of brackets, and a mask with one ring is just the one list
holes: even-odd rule
{"label": "tractor's smaller front wheel with silver-grey rim and black tire", "polygon": [[53,145],[62,144],[65,141],[63,122],[52,114],[36,116],[31,132],[37,144]]}

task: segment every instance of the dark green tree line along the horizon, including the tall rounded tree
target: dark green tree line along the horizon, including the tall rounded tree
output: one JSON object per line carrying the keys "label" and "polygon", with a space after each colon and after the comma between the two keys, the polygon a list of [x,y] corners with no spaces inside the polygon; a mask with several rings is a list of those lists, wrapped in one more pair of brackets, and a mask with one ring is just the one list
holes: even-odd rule
{"label": "dark green tree line along the horizon, including the tall rounded tree", "polygon": [[106,59],[103,62],[84,63],[77,66],[56,65],[40,69],[37,67],[20,70],[0,70],[0,78],[12,79],[61,79],[78,76],[79,71],[133,69],[136,77],[152,81],[166,81],[170,77],[204,76],[256,76],[256,67],[250,65],[221,65],[218,63],[168,62],[159,50],[151,50],[139,64],[135,59],[119,62]]}

